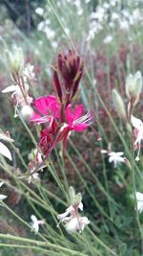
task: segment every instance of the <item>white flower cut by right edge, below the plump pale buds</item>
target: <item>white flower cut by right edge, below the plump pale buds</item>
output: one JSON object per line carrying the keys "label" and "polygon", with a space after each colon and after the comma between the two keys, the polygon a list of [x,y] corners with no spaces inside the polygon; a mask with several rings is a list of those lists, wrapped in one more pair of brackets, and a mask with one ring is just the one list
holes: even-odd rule
{"label": "white flower cut by right edge, below the plump pale buds", "polygon": [[132,115],[131,122],[133,124],[133,134],[134,137],[136,138],[134,141],[134,148],[138,148],[137,156],[135,157],[136,161],[139,161],[139,154],[140,154],[140,149],[141,149],[141,141],[143,140],[143,123],[140,119],[135,118]]}

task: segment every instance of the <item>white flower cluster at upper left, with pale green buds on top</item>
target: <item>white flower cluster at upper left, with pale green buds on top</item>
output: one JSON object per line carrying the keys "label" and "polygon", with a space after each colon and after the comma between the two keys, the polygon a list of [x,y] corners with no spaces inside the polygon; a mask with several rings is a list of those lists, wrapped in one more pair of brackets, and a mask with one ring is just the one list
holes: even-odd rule
{"label": "white flower cluster at upper left, with pale green buds on top", "polygon": [[11,93],[10,99],[15,105],[14,117],[17,117],[17,107],[21,108],[24,118],[30,118],[32,113],[32,98],[29,95],[29,81],[34,79],[33,66],[24,65],[24,55],[21,48],[13,46],[12,51],[6,51],[7,64],[10,70],[12,84],[3,89],[3,93]]}

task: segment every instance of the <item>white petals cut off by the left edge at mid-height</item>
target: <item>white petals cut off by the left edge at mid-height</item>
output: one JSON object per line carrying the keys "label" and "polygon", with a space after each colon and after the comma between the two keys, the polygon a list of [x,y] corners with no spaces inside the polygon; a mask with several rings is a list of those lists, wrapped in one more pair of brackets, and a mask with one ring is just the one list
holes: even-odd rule
{"label": "white petals cut off by the left edge at mid-height", "polygon": [[[0,140],[4,140],[7,142],[13,142],[13,140],[7,136],[6,134],[0,132]],[[0,142],[0,153],[7,157],[10,161],[12,160],[10,150],[5,146],[2,142]]]}

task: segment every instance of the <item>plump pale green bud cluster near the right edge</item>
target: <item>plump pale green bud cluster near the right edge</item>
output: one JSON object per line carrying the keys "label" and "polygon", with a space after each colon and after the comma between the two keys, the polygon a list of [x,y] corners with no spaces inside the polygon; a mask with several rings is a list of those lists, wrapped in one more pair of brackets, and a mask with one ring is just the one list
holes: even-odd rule
{"label": "plump pale green bud cluster near the right edge", "polygon": [[133,106],[139,101],[139,96],[142,89],[142,76],[140,71],[137,71],[134,75],[130,74],[126,81],[126,94]]}

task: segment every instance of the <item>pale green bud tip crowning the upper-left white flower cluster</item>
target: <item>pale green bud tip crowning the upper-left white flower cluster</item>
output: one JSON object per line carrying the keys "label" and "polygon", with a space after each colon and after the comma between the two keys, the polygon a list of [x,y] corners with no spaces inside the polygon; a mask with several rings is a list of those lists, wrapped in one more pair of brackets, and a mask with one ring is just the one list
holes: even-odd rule
{"label": "pale green bud tip crowning the upper-left white flower cluster", "polygon": [[8,50],[6,51],[6,58],[11,75],[17,73],[21,76],[24,69],[24,55],[22,48],[14,45],[11,52]]}

